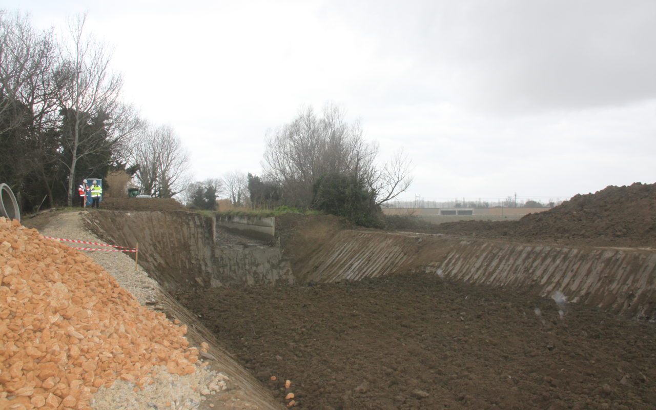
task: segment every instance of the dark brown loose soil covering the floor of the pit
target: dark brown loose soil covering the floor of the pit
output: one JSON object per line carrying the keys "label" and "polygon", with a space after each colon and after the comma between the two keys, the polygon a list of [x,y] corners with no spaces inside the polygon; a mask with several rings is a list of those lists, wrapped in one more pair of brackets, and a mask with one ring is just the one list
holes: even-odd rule
{"label": "dark brown loose soil covering the floor of the pit", "polygon": [[575,304],[417,274],[177,296],[300,409],[656,407],[653,324]]}

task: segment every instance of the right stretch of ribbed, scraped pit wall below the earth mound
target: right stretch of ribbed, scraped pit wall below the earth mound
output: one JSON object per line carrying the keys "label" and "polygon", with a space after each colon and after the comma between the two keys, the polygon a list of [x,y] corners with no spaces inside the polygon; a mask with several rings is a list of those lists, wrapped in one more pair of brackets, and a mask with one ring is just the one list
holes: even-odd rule
{"label": "right stretch of ribbed, scraped pit wall below the earth mound", "polygon": [[[656,253],[612,248],[560,248],[492,241],[461,241],[428,270],[453,279],[550,297],[635,318],[656,318]],[[431,269],[432,268],[432,269]]]}

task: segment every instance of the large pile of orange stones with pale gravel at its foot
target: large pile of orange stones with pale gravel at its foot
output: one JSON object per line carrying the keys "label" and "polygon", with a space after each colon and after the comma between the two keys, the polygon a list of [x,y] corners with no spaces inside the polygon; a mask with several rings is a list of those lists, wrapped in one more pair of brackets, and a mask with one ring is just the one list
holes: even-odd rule
{"label": "large pile of orange stones with pale gravel at its foot", "polygon": [[80,251],[0,218],[0,409],[192,409],[226,388],[199,361],[207,345],[189,346],[186,326],[124,289],[155,300],[145,273],[106,254],[131,265],[125,285]]}

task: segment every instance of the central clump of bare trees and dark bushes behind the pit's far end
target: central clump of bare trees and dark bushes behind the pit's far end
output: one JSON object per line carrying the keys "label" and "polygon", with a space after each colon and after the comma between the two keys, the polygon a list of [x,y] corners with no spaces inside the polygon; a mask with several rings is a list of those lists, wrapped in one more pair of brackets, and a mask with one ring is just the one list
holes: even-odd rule
{"label": "central clump of bare trees and dark bushes behind the pit's far end", "polygon": [[380,223],[380,205],[409,188],[411,161],[403,151],[379,163],[379,147],[363,138],[356,121],[326,104],[300,110],[290,123],[266,135],[263,172],[228,174],[190,185],[185,201],[213,209],[213,195],[227,194],[233,205],[256,209],[294,207],[344,216],[363,226]]}

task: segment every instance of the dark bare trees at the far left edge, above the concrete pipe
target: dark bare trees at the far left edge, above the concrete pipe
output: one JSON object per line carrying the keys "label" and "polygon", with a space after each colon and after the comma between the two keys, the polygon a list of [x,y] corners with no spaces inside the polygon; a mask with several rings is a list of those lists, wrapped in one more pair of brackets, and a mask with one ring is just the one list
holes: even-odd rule
{"label": "dark bare trees at the far left edge, above the concrete pipe", "polygon": [[[58,110],[55,57],[52,30],[39,33],[25,14],[0,10],[0,179],[24,198],[45,191],[51,203],[58,164],[58,146],[48,132]],[[38,184],[27,187],[26,180],[35,178]]]}

